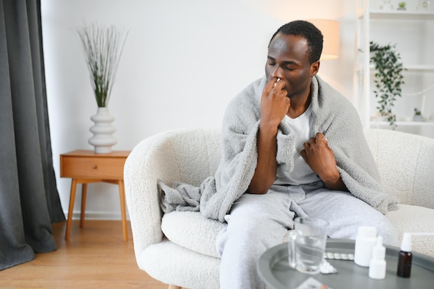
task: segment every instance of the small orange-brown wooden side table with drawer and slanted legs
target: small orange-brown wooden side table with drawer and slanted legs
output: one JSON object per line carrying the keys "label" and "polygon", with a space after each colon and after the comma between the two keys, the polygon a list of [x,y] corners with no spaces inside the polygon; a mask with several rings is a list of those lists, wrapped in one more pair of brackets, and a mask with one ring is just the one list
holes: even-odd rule
{"label": "small orange-brown wooden side table with drawer and slanted legs", "polygon": [[80,227],[83,227],[85,225],[87,184],[93,182],[107,182],[119,185],[123,240],[128,240],[123,165],[129,154],[130,151],[126,150],[114,150],[109,154],[95,154],[93,150],[74,150],[60,155],[60,177],[71,177],[72,179],[65,240],[69,240],[69,233],[71,232],[77,184],[83,184],[80,211]]}

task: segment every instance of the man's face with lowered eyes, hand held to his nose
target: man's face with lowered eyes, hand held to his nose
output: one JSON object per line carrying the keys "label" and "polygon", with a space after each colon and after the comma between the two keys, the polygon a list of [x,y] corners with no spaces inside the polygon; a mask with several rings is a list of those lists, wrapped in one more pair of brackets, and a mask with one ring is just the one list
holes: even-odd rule
{"label": "man's face with lowered eyes, hand held to his nose", "polygon": [[311,76],[318,71],[318,67],[319,62],[310,64],[308,44],[304,37],[277,33],[270,42],[266,63],[267,80],[273,77],[285,80],[285,89],[290,98],[309,92]]}

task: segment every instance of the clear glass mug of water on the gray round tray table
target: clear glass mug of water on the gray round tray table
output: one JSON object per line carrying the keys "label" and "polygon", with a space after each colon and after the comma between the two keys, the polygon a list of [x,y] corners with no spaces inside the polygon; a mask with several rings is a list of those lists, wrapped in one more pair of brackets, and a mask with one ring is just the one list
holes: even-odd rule
{"label": "clear glass mug of water on the gray round tray table", "polygon": [[289,265],[299,272],[318,274],[327,243],[329,222],[319,218],[299,217],[288,240]]}

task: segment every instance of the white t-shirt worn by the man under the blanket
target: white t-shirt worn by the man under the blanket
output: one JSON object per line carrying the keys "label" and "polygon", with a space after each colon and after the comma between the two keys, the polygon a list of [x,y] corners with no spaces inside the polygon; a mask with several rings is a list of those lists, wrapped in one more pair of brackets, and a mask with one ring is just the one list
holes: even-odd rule
{"label": "white t-shirt worn by the man under the blanket", "polygon": [[277,177],[274,184],[299,185],[311,184],[320,180],[320,177],[313,172],[306,164],[300,152],[304,150],[303,143],[310,142],[313,137],[312,109],[309,105],[306,112],[296,119],[285,116],[284,121],[290,126],[295,134],[295,147],[293,150],[294,169],[292,172],[284,171],[281,166],[277,167]]}

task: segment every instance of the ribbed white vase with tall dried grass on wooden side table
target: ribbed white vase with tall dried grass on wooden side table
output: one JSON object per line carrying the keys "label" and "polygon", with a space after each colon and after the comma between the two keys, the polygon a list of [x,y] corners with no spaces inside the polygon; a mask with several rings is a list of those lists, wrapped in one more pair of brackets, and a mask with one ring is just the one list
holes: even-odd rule
{"label": "ribbed white vase with tall dried grass on wooden side table", "polygon": [[117,141],[112,136],[116,131],[111,124],[114,117],[109,114],[107,105],[128,33],[115,26],[100,24],[83,24],[76,28],[76,32],[83,44],[98,105],[97,113],[91,117],[95,125],[89,129],[94,134],[89,143],[95,147],[97,154],[110,153]]}

